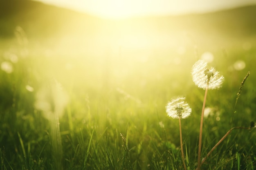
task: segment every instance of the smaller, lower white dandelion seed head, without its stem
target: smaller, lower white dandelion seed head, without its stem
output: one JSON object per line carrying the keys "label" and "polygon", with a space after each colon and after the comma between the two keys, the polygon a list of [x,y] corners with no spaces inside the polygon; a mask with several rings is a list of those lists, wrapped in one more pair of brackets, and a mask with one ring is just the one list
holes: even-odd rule
{"label": "smaller, lower white dandelion seed head, without its stem", "polygon": [[192,112],[189,104],[185,102],[185,97],[182,96],[172,98],[171,102],[168,102],[165,108],[167,115],[173,119],[185,119]]}

